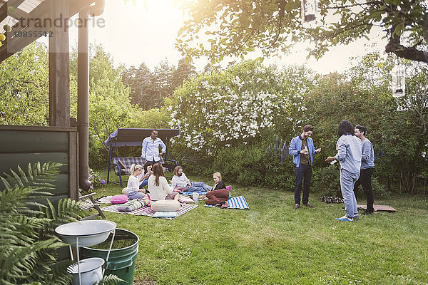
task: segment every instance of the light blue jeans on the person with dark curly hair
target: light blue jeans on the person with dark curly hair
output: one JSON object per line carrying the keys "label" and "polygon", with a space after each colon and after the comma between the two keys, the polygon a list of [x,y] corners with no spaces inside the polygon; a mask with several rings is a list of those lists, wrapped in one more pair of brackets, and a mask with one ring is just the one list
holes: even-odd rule
{"label": "light blue jeans on the person with dark curly hair", "polygon": [[345,202],[346,216],[353,218],[357,214],[357,199],[355,199],[354,185],[357,182],[360,173],[352,173],[347,170],[340,170],[340,190]]}

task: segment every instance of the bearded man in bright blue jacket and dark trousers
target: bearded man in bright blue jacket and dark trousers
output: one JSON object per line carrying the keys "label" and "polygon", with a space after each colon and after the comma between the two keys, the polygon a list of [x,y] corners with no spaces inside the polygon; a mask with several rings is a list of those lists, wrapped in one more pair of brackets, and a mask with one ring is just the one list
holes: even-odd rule
{"label": "bearded man in bright blue jacket and dark trousers", "polygon": [[310,136],[314,127],[312,125],[305,125],[301,135],[293,138],[290,142],[289,153],[292,155],[292,162],[296,167],[296,184],[295,184],[295,207],[300,208],[300,192],[302,191],[303,184],[303,197],[302,202],[305,206],[313,208],[309,202],[309,187],[312,178],[312,163],[314,155],[321,151],[320,148],[315,150],[314,142]]}

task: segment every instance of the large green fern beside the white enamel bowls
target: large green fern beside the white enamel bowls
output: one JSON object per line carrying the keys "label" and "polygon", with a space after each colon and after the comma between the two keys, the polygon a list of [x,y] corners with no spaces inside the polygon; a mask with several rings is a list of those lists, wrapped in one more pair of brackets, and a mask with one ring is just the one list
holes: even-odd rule
{"label": "large green fern beside the white enamel bowls", "polygon": [[58,249],[66,246],[54,233],[63,223],[81,218],[79,202],[62,199],[58,207],[49,200],[49,190],[61,164],[40,162],[25,173],[11,170],[1,181],[0,192],[0,284],[70,284],[66,268],[71,261],[58,261]]}

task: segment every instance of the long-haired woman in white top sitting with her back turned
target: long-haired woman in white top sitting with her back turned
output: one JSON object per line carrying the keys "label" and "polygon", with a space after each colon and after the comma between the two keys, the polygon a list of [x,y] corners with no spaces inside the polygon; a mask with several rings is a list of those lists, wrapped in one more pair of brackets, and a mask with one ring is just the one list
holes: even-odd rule
{"label": "long-haired woman in white top sitting with her back turned", "polygon": [[173,192],[173,188],[168,185],[161,163],[153,165],[153,175],[148,177],[148,192],[150,192],[150,199],[153,201],[165,199],[178,200],[180,196],[177,192]]}

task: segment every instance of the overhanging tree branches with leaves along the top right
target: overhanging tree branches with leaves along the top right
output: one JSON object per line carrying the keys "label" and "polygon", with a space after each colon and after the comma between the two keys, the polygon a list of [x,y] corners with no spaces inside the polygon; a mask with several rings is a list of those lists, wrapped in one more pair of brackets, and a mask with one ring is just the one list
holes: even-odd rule
{"label": "overhanging tree branches with leaves along the top right", "polygon": [[298,0],[197,0],[183,3],[189,19],[175,46],[190,58],[241,56],[260,48],[264,56],[290,51],[310,40],[309,56],[322,57],[330,46],[370,39],[379,27],[387,53],[428,63],[427,2],[424,0],[320,0],[317,26],[302,24]]}

